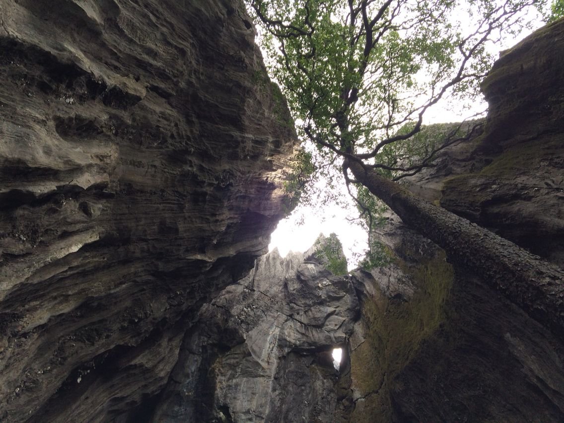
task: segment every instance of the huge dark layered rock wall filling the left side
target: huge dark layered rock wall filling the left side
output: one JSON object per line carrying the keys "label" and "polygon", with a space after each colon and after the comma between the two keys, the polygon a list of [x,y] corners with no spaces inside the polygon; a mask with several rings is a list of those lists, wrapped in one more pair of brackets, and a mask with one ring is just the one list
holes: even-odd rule
{"label": "huge dark layered rock wall filling the left side", "polygon": [[139,421],[287,212],[287,108],[236,1],[0,24],[0,420]]}

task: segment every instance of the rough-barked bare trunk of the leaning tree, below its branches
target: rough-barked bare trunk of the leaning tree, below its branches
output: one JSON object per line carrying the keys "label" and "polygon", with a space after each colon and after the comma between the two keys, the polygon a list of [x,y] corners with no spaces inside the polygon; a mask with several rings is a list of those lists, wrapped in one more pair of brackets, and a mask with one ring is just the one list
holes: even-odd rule
{"label": "rough-barked bare trunk of the leaning tree, below its branches", "polygon": [[347,160],[356,180],[402,221],[443,248],[451,261],[472,269],[532,318],[564,336],[564,271],[448,210]]}

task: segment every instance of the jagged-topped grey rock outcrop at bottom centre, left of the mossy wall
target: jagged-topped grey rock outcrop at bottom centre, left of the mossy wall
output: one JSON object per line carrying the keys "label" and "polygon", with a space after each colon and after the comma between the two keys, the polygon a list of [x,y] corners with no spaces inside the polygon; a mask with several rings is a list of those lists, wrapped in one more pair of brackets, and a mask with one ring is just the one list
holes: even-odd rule
{"label": "jagged-topped grey rock outcrop at bottom centre, left of the mossy wall", "polygon": [[316,253],[328,241],[268,253],[202,307],[152,421],[334,421],[331,352],[347,342],[358,301],[350,277]]}

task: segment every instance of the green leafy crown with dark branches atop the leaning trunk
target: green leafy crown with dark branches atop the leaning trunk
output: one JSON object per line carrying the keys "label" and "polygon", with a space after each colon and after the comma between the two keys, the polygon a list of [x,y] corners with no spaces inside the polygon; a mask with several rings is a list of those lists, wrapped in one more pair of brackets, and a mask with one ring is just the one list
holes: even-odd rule
{"label": "green leafy crown with dark branches atop the leaning trunk", "polygon": [[446,96],[473,102],[495,59],[487,43],[518,32],[542,1],[246,0],[316,172],[329,187],[342,175],[367,215],[350,161],[398,180],[468,139],[476,125],[422,139],[425,112]]}

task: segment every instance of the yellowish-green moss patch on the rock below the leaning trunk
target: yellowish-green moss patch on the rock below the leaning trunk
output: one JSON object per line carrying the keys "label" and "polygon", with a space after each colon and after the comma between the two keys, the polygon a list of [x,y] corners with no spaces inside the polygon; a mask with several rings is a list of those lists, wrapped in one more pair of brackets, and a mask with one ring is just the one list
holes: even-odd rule
{"label": "yellowish-green moss patch on the rock below the leaning trunk", "polygon": [[397,263],[418,290],[409,302],[377,295],[362,303],[366,341],[351,353],[351,376],[361,395],[370,395],[353,412],[355,422],[391,420],[390,382],[445,318],[454,274],[444,252],[417,266]]}

